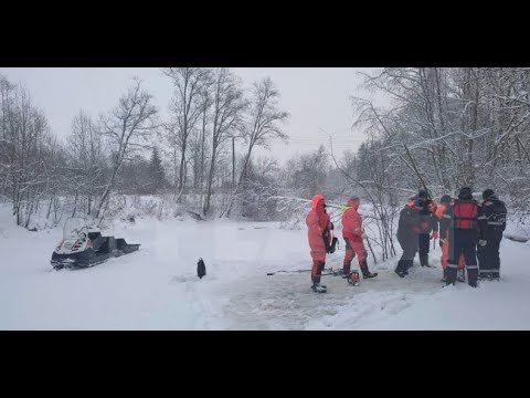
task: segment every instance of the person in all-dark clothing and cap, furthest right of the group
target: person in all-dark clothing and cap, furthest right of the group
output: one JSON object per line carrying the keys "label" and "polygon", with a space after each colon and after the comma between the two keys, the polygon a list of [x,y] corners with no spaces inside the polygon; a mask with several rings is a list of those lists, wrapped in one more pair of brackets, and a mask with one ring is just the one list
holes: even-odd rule
{"label": "person in all-dark clothing and cap, furthest right of the group", "polygon": [[506,229],[506,205],[499,200],[492,189],[483,192],[481,220],[486,223],[480,240],[486,242],[478,247],[478,266],[481,280],[498,280],[500,274],[499,247]]}

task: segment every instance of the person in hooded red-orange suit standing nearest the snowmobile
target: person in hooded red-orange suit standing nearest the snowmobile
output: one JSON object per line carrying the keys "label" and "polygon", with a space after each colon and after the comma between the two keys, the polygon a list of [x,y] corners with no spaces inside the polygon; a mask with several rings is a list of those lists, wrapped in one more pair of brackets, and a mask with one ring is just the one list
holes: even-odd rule
{"label": "person in hooded red-orange suit standing nearest the snowmobile", "polygon": [[311,211],[306,217],[307,238],[312,258],[311,289],[318,293],[327,292],[327,287],[320,284],[320,275],[326,265],[326,253],[329,252],[331,244],[330,230],[333,229],[329,214],[326,212],[325,200],[322,195],[315,195],[311,201]]}

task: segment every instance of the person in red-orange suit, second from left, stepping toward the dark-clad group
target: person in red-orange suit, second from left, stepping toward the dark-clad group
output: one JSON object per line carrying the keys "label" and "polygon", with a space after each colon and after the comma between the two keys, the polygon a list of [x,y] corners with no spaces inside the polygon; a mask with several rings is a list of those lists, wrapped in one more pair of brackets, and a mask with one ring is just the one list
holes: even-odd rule
{"label": "person in red-orange suit, second from left, stepping toward the dark-clad group", "polygon": [[361,269],[362,276],[374,277],[377,273],[371,273],[368,270],[368,252],[364,248],[362,240],[365,238],[364,230],[362,228],[362,219],[358,212],[359,197],[354,196],[348,200],[347,206],[342,209],[342,238],[346,242],[346,254],[342,263],[342,277],[350,276],[351,261],[357,254],[359,261],[359,268]]}

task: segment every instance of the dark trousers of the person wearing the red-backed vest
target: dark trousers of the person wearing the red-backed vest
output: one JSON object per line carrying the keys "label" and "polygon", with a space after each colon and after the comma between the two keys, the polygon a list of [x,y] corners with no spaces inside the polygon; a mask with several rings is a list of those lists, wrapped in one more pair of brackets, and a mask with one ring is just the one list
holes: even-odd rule
{"label": "dark trousers of the person wearing the red-backed vest", "polygon": [[467,266],[467,281],[470,286],[477,286],[477,232],[475,230],[455,229],[451,231],[449,260],[447,264],[447,283],[456,282],[458,258],[464,254]]}

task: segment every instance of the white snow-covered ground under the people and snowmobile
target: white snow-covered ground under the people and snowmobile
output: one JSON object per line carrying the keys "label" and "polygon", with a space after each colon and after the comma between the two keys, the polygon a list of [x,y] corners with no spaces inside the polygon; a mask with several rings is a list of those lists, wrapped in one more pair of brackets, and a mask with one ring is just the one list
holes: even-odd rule
{"label": "white snow-covered ground under the people and snowmobile", "polygon": [[[504,240],[500,282],[442,289],[436,268],[314,293],[305,230],[275,223],[137,219],[112,231],[140,250],[80,271],[53,271],[61,230],[29,232],[0,206],[0,329],[530,329],[530,242]],[[343,244],[328,256],[340,266]],[[206,276],[197,277],[204,259]],[[371,259],[370,259],[371,260]],[[357,260],[354,260],[356,262]],[[357,266],[357,263],[356,263]]]}

